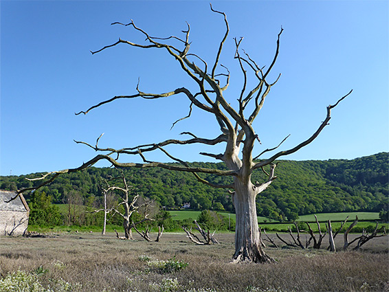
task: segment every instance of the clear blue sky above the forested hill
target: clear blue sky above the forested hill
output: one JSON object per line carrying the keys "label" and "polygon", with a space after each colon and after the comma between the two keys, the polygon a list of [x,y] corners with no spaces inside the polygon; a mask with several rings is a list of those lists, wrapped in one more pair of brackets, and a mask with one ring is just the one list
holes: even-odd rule
{"label": "clear blue sky above the forested hill", "polygon": [[[285,158],[353,159],[389,150],[388,1],[213,5],[230,23],[221,63],[231,71],[225,96],[232,104],[243,80],[233,58],[233,37],[244,36],[241,47],[258,65],[269,65],[281,25],[284,28],[272,77],[282,76],[254,124],[263,142],[254,155],[289,134],[282,149],[307,139],[324,120],[326,106],[351,89],[351,96],[333,109],[320,137]],[[188,113],[184,96],[119,100],[74,115],[115,95],[136,93],[138,77],[146,92],[194,88],[177,61],[162,50],[121,45],[91,55],[89,50],[119,37],[144,41],[131,27],[110,25],[130,19],[162,37],[182,36],[188,21],[190,52],[209,66],[224,33],[223,19],[210,11],[208,1],[1,1],[1,175],[80,166],[96,153],[73,139],[94,144],[101,133],[100,146],[111,148],[184,139],[179,135],[183,131],[207,138],[219,135],[214,118],[199,110],[170,131],[171,124]],[[187,161],[213,161],[197,154],[212,152],[210,148],[168,150]],[[159,153],[147,158],[168,161]]]}

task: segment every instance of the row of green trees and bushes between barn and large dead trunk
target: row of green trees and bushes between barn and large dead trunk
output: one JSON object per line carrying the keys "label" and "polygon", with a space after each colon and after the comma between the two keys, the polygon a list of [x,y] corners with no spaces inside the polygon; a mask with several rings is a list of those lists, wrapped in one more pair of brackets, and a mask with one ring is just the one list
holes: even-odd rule
{"label": "row of green trees and bushes between barn and large dead trunk", "polygon": [[[132,196],[133,198],[133,196]],[[131,198],[131,199],[132,199]],[[98,226],[104,225],[104,213],[95,212],[103,207],[102,205],[96,205],[95,207],[88,207],[82,205],[82,196],[77,192],[69,192],[65,196],[65,203],[61,208],[58,205],[52,203],[52,196],[46,194],[44,191],[37,190],[28,199],[30,206],[30,225],[38,225],[41,227],[52,226]],[[123,207],[120,205],[120,198],[113,193],[109,193],[107,196],[107,209],[116,207],[118,212],[124,213]],[[153,205],[152,216],[149,217],[149,221],[145,221],[139,227],[157,228],[158,226],[164,226],[166,230],[181,230],[182,226],[192,227],[193,219],[197,219],[197,222],[201,227],[205,229],[217,229],[217,230],[232,230],[234,231],[234,221],[228,220],[228,218],[218,214],[211,210],[203,210],[199,214],[198,218],[189,218],[184,221],[173,220],[172,216],[166,210],[163,210],[160,205]],[[107,224],[114,226],[122,226],[123,218],[111,212],[107,216]],[[140,222],[144,218],[142,212],[134,212],[131,215],[131,221]]]}

